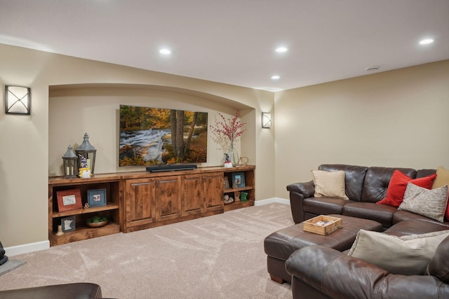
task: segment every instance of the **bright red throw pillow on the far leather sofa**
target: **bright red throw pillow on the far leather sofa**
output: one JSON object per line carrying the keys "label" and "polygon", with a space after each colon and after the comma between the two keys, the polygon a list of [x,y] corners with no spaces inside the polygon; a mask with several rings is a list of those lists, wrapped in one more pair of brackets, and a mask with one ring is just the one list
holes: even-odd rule
{"label": "bright red throw pillow on the far leather sofa", "polygon": [[399,207],[401,204],[404,193],[406,193],[407,183],[413,183],[416,186],[422,188],[431,189],[434,184],[436,174],[424,176],[419,179],[412,179],[407,174],[404,174],[400,170],[396,169],[391,176],[391,181],[388,184],[387,197],[377,202],[378,204],[388,204],[392,207]]}

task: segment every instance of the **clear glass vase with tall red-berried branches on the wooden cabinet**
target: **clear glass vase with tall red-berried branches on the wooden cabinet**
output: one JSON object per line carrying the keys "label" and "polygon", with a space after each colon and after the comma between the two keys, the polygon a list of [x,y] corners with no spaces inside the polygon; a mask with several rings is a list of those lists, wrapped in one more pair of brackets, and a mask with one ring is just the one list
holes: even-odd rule
{"label": "clear glass vase with tall red-berried branches on the wooden cabinet", "polygon": [[213,140],[219,144],[224,153],[227,154],[229,160],[232,162],[232,166],[236,166],[239,161],[239,154],[234,148],[236,141],[239,141],[243,132],[243,126],[246,123],[242,123],[240,120],[240,111],[236,111],[236,115],[232,118],[225,118],[222,113],[218,113],[219,118],[215,118],[215,125],[210,125],[210,129],[213,133]]}

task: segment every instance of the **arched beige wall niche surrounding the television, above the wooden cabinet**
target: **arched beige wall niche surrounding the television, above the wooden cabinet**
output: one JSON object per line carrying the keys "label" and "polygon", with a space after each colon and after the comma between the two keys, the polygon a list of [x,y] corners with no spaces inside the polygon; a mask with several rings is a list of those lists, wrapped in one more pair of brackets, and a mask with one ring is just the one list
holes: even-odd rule
{"label": "arched beige wall niche surrounding the television, above the wooden cabinet", "polygon": [[[241,111],[248,132],[254,132],[255,108],[207,92],[161,85],[88,83],[52,85],[48,99],[48,171],[49,176],[62,175],[62,155],[67,146],[79,146],[83,134],[98,151],[95,169],[97,173],[142,170],[143,167],[118,166],[119,105],[135,105],[208,113],[208,125],[213,125],[217,113],[232,118]],[[242,144],[254,142],[250,133],[243,134]],[[236,144],[241,153],[241,143]],[[255,157],[246,146],[244,155]],[[208,134],[208,158],[200,167],[220,165],[223,149]],[[254,164],[255,162],[253,162]]]}

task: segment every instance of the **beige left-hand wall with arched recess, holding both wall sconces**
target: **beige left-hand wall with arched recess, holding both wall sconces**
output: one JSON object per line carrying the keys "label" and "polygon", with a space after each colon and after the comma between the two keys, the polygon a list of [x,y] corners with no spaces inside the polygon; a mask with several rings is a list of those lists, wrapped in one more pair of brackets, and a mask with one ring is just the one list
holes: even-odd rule
{"label": "beige left-hand wall with arched recess, holding both wall sconces", "polygon": [[[262,109],[274,112],[272,92],[3,44],[0,44],[0,65],[2,90],[4,85],[32,88],[31,116],[5,115],[4,110],[0,113],[0,240],[6,247],[48,240],[48,175],[58,173],[58,157],[62,163],[60,157],[67,146],[80,143],[84,132],[91,134],[92,144],[98,149],[96,172],[116,171],[116,149],[109,146],[116,142],[114,118],[118,108],[116,105],[123,99],[121,97],[136,104],[167,103],[187,108],[204,105],[206,111],[229,114],[235,109],[243,109],[242,119],[247,122],[248,132],[243,134],[241,155],[250,158],[250,164],[257,165],[256,198],[260,200],[274,196],[272,175],[266,175],[274,172],[274,130],[262,130],[259,117]],[[103,88],[93,91],[76,86],[76,90],[71,92],[55,88],[55,85],[86,87],[83,84],[92,83],[119,86],[119,95],[110,95]],[[130,99],[129,95],[123,96],[123,85],[143,85],[145,92],[134,90],[138,97]],[[76,95],[77,92],[81,95]],[[95,96],[95,92],[99,95]],[[168,100],[167,97],[171,96],[174,99]],[[0,93],[0,99],[3,107],[4,92]],[[82,105],[74,107],[76,101]],[[81,115],[73,113],[72,109]],[[101,122],[93,118],[92,114],[96,112],[104,113]],[[67,133],[59,131],[54,137],[53,132],[58,131],[55,126],[61,122],[66,124]],[[219,160],[221,155],[219,158],[211,153],[208,163],[218,163]]]}

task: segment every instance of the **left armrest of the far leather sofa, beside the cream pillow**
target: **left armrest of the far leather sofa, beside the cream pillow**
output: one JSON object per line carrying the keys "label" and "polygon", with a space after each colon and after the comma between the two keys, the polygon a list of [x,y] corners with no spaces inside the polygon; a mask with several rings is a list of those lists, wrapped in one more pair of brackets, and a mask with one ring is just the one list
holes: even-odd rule
{"label": "left armrest of the far leather sofa, beside the cream pillow", "polygon": [[301,223],[304,221],[304,209],[302,208],[302,200],[312,197],[315,194],[314,181],[305,183],[291,183],[287,186],[290,191],[290,209],[292,210],[293,221]]}

